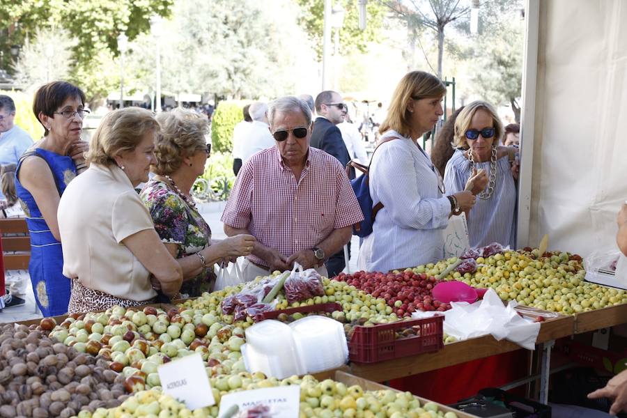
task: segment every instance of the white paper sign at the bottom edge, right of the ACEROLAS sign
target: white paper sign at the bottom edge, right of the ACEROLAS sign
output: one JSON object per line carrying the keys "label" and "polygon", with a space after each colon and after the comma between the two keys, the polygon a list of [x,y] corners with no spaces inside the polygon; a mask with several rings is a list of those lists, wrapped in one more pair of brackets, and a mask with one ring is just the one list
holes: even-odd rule
{"label": "white paper sign at the bottom edge, right of the ACEROLAS sign", "polygon": [[220,398],[219,415],[222,416],[233,405],[238,405],[240,412],[268,408],[272,418],[294,418],[299,414],[300,386],[268,387],[224,395]]}

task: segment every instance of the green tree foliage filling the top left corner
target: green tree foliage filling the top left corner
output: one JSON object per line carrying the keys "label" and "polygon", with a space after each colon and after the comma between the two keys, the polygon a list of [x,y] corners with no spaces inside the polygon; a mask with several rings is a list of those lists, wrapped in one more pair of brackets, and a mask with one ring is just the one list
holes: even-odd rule
{"label": "green tree foliage filling the top left corner", "polygon": [[[129,39],[150,29],[151,15],[169,15],[173,0],[91,0],[79,3],[65,0],[0,0],[0,51],[8,67],[10,45],[34,42],[38,29],[65,29],[71,40],[73,62],[69,79],[88,95],[107,95],[112,56],[118,54],[117,37]],[[47,40],[49,41],[49,40]],[[73,64],[73,66],[72,66]]]}

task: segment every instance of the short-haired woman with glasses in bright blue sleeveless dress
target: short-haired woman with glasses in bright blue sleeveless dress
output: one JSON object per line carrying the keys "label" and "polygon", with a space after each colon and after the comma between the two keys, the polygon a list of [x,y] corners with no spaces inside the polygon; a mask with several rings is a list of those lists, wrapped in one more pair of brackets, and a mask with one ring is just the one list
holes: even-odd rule
{"label": "short-haired woman with glasses in bright blue sleeveless dress", "polygon": [[31,235],[29,274],[43,316],[68,311],[70,279],[63,276],[63,254],[56,219],[59,199],[70,181],[86,169],[87,150],[81,140],[88,113],[85,94],[66,82],[41,86],[33,111],[43,125],[44,137],[26,150],[17,164],[15,189]]}

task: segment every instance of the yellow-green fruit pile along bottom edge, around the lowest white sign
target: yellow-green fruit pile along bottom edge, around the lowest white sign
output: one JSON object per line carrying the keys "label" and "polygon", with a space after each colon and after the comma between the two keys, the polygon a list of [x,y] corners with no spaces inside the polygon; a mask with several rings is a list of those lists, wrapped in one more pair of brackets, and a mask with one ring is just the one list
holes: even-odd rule
{"label": "yellow-green fruit pile along bottom edge, around the lowest white sign", "polygon": [[[421,405],[409,392],[393,390],[364,391],[359,385],[347,387],[331,379],[318,382],[313,376],[293,376],[284,380],[266,378],[263,373],[241,372],[210,378],[216,405],[194,410],[185,408],[159,390],[142,391],[127,398],[117,408],[98,408],[81,412],[79,418],[105,417],[217,417],[222,396],[242,390],[300,385],[300,417],[390,417],[455,418],[454,412],[442,412],[433,402]],[[236,415],[249,416],[249,415]],[[254,415],[257,416],[257,415]]]}

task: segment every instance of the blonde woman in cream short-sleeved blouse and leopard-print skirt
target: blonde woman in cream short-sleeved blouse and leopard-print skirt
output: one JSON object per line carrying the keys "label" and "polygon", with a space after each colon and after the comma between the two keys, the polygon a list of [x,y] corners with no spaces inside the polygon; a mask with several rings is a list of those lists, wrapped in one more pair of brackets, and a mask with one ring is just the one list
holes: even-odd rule
{"label": "blonde woman in cream short-sleeved blouse and leopard-print skirt", "polygon": [[71,279],[70,314],[155,302],[156,288],[168,296],[178,293],[180,265],[134,189],[148,181],[150,164],[156,164],[159,130],[153,114],[139,107],[104,116],[91,138],[89,169],[61,196],[59,231],[63,274]]}

